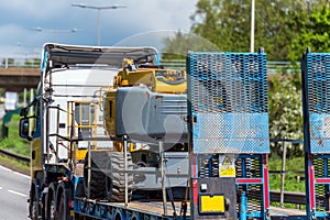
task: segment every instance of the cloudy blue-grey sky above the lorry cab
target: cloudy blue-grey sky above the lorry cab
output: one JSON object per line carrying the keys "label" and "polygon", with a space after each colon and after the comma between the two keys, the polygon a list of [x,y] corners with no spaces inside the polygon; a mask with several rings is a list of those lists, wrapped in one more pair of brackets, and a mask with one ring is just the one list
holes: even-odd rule
{"label": "cloudy blue-grey sky above the lorry cab", "polygon": [[[175,31],[189,31],[198,0],[6,0],[0,7],[0,57],[38,56],[45,42],[97,45],[97,10],[72,7],[125,6],[101,10],[100,44],[155,46]],[[42,31],[35,31],[35,29]],[[76,29],[76,32],[70,30]],[[157,40],[155,40],[157,38]]]}

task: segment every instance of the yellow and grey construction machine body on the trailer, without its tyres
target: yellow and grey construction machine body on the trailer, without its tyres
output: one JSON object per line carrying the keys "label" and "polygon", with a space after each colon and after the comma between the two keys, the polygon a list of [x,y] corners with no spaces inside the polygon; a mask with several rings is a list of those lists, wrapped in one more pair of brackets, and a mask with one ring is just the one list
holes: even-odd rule
{"label": "yellow and grey construction machine body on the trailer, without its tyres", "polygon": [[[166,180],[166,188],[186,187],[186,91],[185,70],[166,69],[156,65],[151,56],[144,56],[139,59],[124,58],[113,87],[105,92],[103,117],[108,135],[128,142],[124,146],[124,141],[114,141],[113,151],[123,152],[127,147],[134,172],[139,173],[133,175],[132,189],[162,189],[162,160],[166,161],[165,173],[172,176]],[[108,169],[113,167],[112,163],[117,164],[111,162],[110,156]],[[108,177],[108,195],[111,195],[111,182]]]}

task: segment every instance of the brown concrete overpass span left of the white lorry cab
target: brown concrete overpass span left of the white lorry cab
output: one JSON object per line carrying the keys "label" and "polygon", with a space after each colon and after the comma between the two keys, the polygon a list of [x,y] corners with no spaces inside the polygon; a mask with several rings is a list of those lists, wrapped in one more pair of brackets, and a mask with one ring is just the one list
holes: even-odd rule
{"label": "brown concrete overpass span left of the white lorry cab", "polygon": [[0,88],[15,90],[36,88],[38,80],[38,68],[0,68]]}

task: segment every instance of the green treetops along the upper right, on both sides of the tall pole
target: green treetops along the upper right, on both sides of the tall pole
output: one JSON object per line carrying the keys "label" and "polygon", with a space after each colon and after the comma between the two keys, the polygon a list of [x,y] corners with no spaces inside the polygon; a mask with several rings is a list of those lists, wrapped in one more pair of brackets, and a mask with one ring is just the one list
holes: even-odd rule
{"label": "green treetops along the upper right, on both sides of the tall pole", "polygon": [[[270,61],[299,61],[307,46],[312,52],[329,51],[328,4],[328,0],[255,1],[254,51],[264,47]],[[218,51],[250,51],[251,1],[199,0],[190,19],[191,33],[217,45]],[[194,51],[195,44],[185,34],[166,41],[165,51],[172,54],[185,55],[183,47]]]}

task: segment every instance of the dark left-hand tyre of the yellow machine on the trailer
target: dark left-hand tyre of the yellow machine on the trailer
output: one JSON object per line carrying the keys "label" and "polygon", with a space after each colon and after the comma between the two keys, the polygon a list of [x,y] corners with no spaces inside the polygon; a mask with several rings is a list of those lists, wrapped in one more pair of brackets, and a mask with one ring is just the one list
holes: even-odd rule
{"label": "dark left-hand tyre of the yellow machine on the trailer", "polygon": [[[89,198],[90,199],[105,199],[106,198],[106,174],[100,170],[107,167],[108,153],[105,151],[90,152],[90,183],[89,183]],[[84,180],[88,191],[88,153],[84,161]]]}

